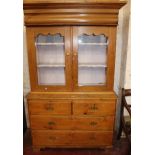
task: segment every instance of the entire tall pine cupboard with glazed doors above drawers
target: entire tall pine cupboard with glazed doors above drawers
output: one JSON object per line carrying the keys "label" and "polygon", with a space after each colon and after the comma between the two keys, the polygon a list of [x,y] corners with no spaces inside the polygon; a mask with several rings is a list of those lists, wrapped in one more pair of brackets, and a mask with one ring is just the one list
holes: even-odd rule
{"label": "entire tall pine cupboard with glazed doors above drawers", "polygon": [[32,144],[112,147],[119,0],[24,0]]}

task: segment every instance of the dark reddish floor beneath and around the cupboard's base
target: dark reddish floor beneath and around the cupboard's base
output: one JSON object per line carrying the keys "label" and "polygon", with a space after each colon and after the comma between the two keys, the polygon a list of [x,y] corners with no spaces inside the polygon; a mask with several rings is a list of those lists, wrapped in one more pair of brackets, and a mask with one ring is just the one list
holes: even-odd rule
{"label": "dark reddish floor beneath and around the cupboard's base", "polygon": [[129,144],[125,139],[118,141],[112,149],[44,149],[33,152],[30,131],[24,135],[23,155],[129,155]]}

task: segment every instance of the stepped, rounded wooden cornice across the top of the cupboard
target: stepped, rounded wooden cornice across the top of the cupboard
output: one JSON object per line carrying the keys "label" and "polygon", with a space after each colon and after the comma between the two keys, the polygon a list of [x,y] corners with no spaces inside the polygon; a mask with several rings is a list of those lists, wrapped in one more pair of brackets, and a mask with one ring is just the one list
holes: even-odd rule
{"label": "stepped, rounded wooden cornice across the top of the cupboard", "polygon": [[117,25],[118,0],[24,0],[26,26]]}

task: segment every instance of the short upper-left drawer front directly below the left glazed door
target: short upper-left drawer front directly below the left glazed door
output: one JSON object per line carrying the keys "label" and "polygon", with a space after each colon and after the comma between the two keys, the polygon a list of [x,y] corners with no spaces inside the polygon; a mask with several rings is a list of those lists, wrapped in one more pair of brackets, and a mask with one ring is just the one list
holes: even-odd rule
{"label": "short upper-left drawer front directly below the left glazed door", "polygon": [[29,113],[34,115],[70,115],[70,101],[33,100],[29,101]]}

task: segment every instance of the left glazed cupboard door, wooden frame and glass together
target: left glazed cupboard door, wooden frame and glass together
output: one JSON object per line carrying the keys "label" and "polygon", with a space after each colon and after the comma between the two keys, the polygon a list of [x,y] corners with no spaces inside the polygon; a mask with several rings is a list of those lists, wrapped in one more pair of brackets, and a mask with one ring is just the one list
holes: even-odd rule
{"label": "left glazed cupboard door, wooden frame and glass together", "polygon": [[[29,30],[28,30],[29,31]],[[34,89],[67,91],[71,89],[70,28],[31,28],[31,54]],[[32,55],[31,55],[32,58]],[[32,78],[34,78],[32,77]]]}

